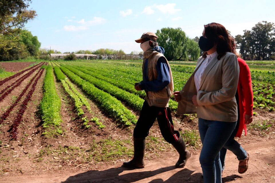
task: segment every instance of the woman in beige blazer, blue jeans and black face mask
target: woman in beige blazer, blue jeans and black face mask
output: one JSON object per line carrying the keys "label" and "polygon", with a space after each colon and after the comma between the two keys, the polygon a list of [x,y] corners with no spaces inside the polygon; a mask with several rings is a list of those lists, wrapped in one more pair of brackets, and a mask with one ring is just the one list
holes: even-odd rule
{"label": "woman in beige blazer, blue jeans and black face mask", "polygon": [[195,114],[203,144],[200,164],[204,183],[222,183],[220,150],[236,126],[238,118],[235,94],[239,79],[237,57],[225,27],[219,23],[204,25],[199,47],[204,51],[195,71],[181,91],[174,92],[177,114]]}

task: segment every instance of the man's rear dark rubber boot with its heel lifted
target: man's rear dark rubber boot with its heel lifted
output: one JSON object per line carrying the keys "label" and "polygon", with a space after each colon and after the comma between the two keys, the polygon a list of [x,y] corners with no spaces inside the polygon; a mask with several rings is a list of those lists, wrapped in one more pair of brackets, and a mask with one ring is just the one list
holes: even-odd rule
{"label": "man's rear dark rubber boot with its heel lifted", "polygon": [[176,163],[176,168],[182,168],[185,166],[186,161],[190,157],[190,152],[186,150],[186,145],[181,136],[178,139],[178,142],[175,142],[172,145],[178,151],[178,154],[180,154],[180,157],[178,158],[178,162]]}

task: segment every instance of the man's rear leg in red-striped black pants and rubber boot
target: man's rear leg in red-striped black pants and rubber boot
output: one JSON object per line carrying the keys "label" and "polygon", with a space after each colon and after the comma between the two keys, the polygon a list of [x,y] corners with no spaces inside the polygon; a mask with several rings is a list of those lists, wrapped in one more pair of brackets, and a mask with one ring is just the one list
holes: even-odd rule
{"label": "man's rear leg in red-striped black pants and rubber boot", "polygon": [[190,157],[190,152],[186,150],[186,144],[180,136],[180,133],[174,130],[170,108],[160,108],[157,119],[163,138],[168,143],[172,144],[179,153],[179,158],[176,162],[176,168],[184,167],[188,158]]}

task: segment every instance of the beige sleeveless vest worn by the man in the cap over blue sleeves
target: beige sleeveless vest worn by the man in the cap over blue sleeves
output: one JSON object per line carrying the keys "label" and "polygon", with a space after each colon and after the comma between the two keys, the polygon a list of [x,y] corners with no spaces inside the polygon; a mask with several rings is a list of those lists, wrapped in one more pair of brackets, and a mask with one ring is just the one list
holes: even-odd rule
{"label": "beige sleeveless vest worn by the man in the cap over blue sleeves", "polygon": [[[156,69],[156,65],[157,65],[157,61],[160,57],[164,57],[164,55],[162,53],[159,53],[154,50],[148,50],[148,51],[144,52],[142,73],[144,72],[145,60],[148,58],[149,81],[153,81],[158,78],[158,72]],[[168,102],[169,102],[170,97],[172,96],[172,93],[174,90],[174,83],[173,83],[173,76],[172,76],[171,68],[170,68],[170,65],[169,65],[167,59],[166,59],[166,62],[169,67],[170,83],[164,89],[162,89],[158,92],[145,91],[146,92],[145,100],[148,102],[149,106],[168,107]]]}

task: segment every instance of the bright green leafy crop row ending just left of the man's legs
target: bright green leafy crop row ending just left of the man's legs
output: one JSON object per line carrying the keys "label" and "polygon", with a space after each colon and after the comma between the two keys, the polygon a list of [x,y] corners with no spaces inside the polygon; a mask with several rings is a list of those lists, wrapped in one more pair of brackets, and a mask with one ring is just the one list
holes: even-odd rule
{"label": "bright green leafy crop row ending just left of the man's legs", "polygon": [[137,122],[136,116],[131,113],[119,100],[110,94],[103,92],[90,82],[80,78],[64,66],[60,69],[71,81],[78,85],[99,108],[108,116],[120,122],[122,125],[131,125]]}

